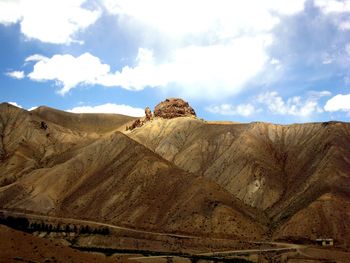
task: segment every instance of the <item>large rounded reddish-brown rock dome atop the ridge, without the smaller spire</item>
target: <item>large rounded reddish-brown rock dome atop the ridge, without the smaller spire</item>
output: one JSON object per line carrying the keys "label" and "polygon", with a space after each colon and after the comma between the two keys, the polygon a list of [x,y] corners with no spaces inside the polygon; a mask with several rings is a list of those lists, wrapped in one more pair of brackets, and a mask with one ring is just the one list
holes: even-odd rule
{"label": "large rounded reddish-brown rock dome atop the ridge, without the smaller spire", "polygon": [[194,109],[188,102],[179,98],[169,98],[154,108],[154,116],[164,119],[196,116]]}

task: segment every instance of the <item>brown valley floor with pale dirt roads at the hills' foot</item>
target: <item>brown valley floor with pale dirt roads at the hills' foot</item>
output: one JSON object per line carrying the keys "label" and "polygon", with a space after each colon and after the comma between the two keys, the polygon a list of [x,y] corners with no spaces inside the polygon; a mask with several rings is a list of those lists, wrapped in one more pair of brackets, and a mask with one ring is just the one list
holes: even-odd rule
{"label": "brown valley floor with pale dirt roads at the hills' foot", "polygon": [[30,234],[0,225],[0,262],[350,262],[350,252],[336,248],[200,238],[87,220],[0,212],[30,222],[85,224],[112,230],[107,236],[55,231]]}

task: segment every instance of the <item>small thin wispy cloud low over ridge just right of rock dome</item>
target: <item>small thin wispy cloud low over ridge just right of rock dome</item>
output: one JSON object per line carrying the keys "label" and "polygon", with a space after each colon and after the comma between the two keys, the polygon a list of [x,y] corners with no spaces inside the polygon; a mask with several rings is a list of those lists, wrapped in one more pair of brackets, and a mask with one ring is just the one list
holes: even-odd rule
{"label": "small thin wispy cloud low over ridge just right of rock dome", "polygon": [[221,114],[221,115],[240,115],[248,117],[253,115],[255,112],[259,111],[255,108],[254,105],[248,104],[239,104],[234,106],[232,104],[221,104],[217,106],[210,106],[206,108],[207,111],[211,113]]}

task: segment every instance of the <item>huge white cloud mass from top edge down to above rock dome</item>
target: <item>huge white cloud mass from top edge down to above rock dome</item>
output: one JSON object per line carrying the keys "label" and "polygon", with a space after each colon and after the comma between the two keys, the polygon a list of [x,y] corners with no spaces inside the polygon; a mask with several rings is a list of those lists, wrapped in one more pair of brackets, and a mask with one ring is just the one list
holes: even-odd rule
{"label": "huge white cloud mass from top edge down to above rock dome", "polygon": [[161,51],[140,48],[138,58],[146,52],[146,59],[103,82],[132,90],[176,88],[186,97],[234,95],[270,61],[273,28],[282,17],[301,12],[304,2],[104,0],[122,28],[142,29],[145,43],[156,39],[163,46]]}

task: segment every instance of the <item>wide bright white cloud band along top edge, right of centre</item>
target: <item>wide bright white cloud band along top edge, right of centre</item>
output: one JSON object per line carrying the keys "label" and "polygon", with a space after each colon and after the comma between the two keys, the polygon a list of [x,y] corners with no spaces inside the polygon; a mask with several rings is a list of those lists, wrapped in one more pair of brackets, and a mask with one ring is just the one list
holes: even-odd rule
{"label": "wide bright white cloud band along top edge, right of centre", "polygon": [[[135,19],[169,36],[203,34],[235,37],[243,32],[269,31],[278,15],[292,15],[304,8],[305,0],[104,0],[106,10]],[[121,19],[122,20],[122,19]]]}

